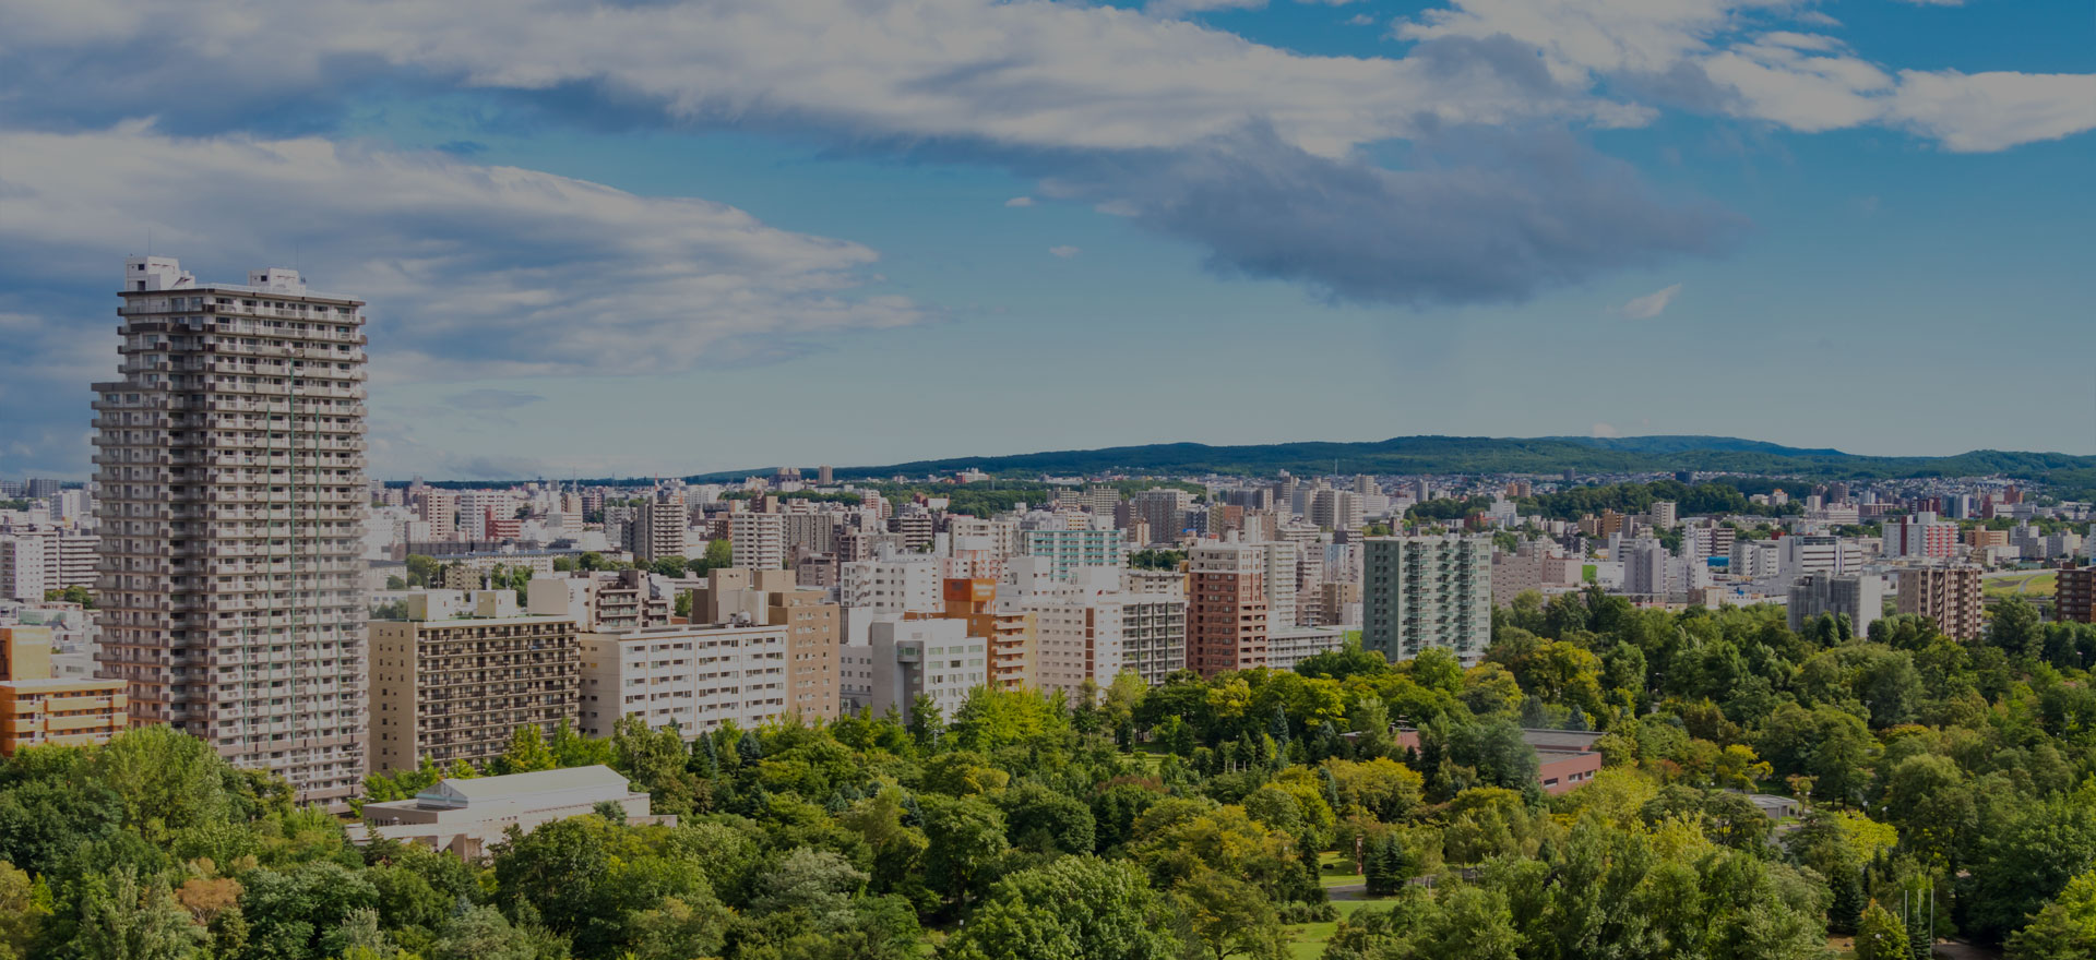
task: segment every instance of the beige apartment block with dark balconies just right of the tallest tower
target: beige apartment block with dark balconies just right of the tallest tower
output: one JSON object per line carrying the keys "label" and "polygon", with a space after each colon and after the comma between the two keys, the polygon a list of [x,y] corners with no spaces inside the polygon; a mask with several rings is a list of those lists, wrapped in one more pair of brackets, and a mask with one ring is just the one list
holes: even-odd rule
{"label": "beige apartment block with dark balconies just right of the tallest tower", "polygon": [[449,616],[442,593],[411,595],[407,620],[371,620],[373,771],[486,767],[518,727],[551,740],[576,719],[572,616],[520,614],[511,591],[478,591],[470,616]]}

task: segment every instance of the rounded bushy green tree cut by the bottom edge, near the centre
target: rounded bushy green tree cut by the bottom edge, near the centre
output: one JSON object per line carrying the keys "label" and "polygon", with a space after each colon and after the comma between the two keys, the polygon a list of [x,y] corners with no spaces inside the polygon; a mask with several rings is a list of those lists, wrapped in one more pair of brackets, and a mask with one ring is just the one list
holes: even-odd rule
{"label": "rounded bushy green tree cut by the bottom edge, near the centre", "polygon": [[1061,857],[991,889],[941,960],[1167,960],[1180,956],[1170,910],[1128,861]]}

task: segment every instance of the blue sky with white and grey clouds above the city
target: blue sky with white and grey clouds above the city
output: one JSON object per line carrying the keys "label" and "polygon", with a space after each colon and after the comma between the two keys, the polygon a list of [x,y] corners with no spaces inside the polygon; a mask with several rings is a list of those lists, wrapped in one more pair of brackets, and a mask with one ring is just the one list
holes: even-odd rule
{"label": "blue sky with white and grey clouds above the city", "polygon": [[0,478],[126,256],[369,302],[371,474],[2096,453],[2086,0],[0,0]]}

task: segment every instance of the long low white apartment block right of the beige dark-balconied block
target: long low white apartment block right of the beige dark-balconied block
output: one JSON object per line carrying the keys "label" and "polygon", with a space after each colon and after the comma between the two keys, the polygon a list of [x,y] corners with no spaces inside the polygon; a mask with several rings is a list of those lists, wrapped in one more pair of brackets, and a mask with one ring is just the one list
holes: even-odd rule
{"label": "long low white apartment block right of the beige dark-balconied block", "polygon": [[677,723],[683,738],[725,721],[750,729],[790,713],[790,625],[671,625],[583,635],[576,729],[612,736],[620,717]]}

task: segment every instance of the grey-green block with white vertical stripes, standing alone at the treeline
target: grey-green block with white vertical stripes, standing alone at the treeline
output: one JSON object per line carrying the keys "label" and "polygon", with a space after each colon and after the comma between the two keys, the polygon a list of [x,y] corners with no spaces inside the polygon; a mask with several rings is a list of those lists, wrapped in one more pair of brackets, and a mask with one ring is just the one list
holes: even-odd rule
{"label": "grey-green block with white vertical stripes, standing alone at the treeline", "polygon": [[1492,643],[1492,539],[1371,537],[1362,583],[1362,650],[1411,660],[1425,648],[1465,667]]}

